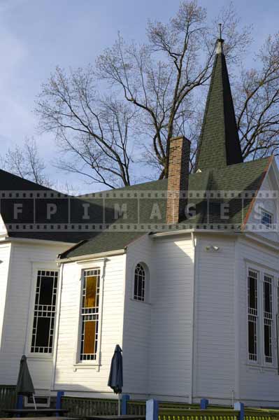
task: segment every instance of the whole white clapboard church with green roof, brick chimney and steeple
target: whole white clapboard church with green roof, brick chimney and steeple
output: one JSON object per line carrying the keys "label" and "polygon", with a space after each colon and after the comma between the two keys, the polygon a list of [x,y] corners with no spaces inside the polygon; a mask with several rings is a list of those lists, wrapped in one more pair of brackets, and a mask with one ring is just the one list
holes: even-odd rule
{"label": "whole white clapboard church with green roof, brick chimney and steeple", "polygon": [[113,397],[120,344],[131,398],[279,407],[278,168],[243,162],[218,43],[194,173],[183,137],[83,197],[0,171],[1,384],[25,354],[37,395]]}

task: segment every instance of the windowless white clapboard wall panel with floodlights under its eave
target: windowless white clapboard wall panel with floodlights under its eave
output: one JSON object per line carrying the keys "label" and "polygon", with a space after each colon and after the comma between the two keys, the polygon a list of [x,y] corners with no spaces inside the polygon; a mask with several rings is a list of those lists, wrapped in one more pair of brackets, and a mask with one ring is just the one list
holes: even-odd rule
{"label": "windowless white clapboard wall panel with floodlights under its eave", "polygon": [[[218,246],[218,251],[207,251]],[[230,402],[234,389],[234,240],[202,237],[196,247],[194,395]]]}

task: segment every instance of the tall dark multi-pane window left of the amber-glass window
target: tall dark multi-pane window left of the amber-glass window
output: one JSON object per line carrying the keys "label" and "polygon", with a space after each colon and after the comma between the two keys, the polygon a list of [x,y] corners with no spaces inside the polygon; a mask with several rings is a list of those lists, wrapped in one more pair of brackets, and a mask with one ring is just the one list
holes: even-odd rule
{"label": "tall dark multi-pane window left of the amber-glass window", "polygon": [[52,353],[57,279],[57,271],[37,272],[31,353]]}

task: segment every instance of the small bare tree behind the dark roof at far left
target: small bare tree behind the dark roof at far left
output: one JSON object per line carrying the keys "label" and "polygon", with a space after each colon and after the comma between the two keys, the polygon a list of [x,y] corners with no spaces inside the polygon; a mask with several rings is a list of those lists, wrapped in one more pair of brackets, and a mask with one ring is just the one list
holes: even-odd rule
{"label": "small bare tree behind the dark roof at far left", "polygon": [[9,148],[1,157],[1,167],[22,178],[50,187],[51,182],[45,174],[45,163],[38,153],[35,139],[27,137],[23,146],[17,144]]}

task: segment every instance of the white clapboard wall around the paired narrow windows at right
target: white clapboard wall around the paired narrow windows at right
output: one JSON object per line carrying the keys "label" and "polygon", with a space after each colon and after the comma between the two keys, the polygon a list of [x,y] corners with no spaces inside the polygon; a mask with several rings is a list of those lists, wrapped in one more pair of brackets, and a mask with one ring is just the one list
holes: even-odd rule
{"label": "white clapboard wall around the paired narrow windows at right", "polygon": [[[248,321],[247,321],[247,269],[252,267],[259,272],[273,274],[275,281],[279,276],[278,253],[265,246],[259,246],[252,241],[241,240],[238,244],[238,267],[240,278],[239,314],[240,314],[240,393],[241,401],[250,405],[278,405],[279,404],[279,375],[277,370],[276,340],[273,342],[274,367],[251,365],[248,362]],[[277,306],[276,290],[273,304]],[[263,296],[258,295],[258,300]],[[276,308],[277,312],[277,308]],[[273,337],[275,339],[275,337]]]}

